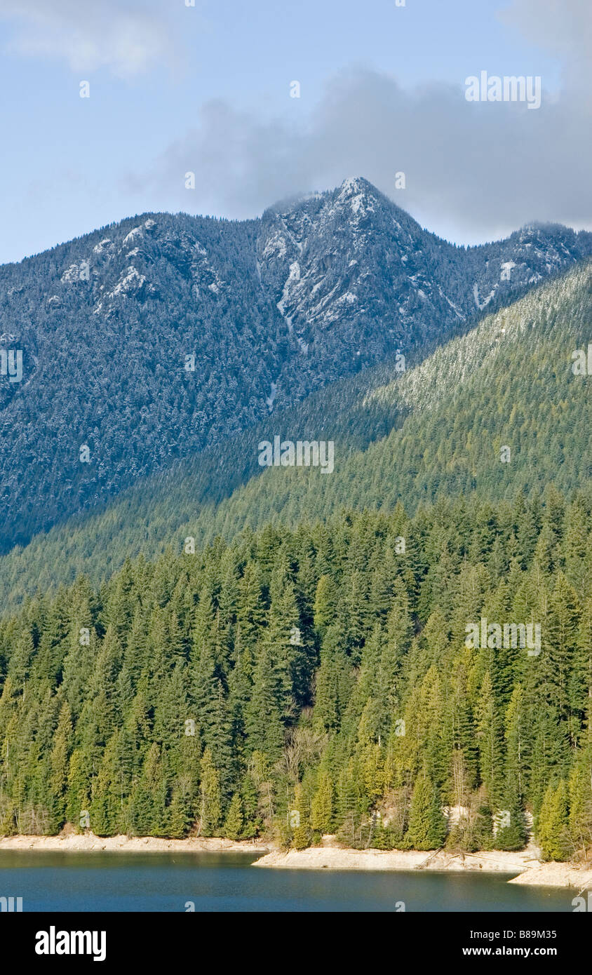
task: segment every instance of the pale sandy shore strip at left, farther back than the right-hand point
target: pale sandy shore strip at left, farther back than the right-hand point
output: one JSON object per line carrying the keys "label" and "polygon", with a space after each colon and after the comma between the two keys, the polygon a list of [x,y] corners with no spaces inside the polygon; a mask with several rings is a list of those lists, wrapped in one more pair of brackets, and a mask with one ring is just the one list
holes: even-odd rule
{"label": "pale sandy shore strip at left, farther back than the right-hand point", "polygon": [[159,837],[96,837],[94,833],[57,837],[2,837],[0,850],[46,850],[48,852],[80,852],[105,850],[123,853],[266,853],[268,843],[254,843],[250,839],[199,837],[192,839],[160,839]]}

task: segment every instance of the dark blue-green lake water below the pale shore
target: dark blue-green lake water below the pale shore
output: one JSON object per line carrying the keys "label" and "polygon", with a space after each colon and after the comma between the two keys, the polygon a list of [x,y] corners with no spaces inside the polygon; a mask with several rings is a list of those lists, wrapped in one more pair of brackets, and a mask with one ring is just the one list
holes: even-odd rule
{"label": "dark blue-green lake water below the pale shore", "polygon": [[576,892],[506,875],[256,869],[243,853],[0,851],[0,897],[28,911],[572,912]]}

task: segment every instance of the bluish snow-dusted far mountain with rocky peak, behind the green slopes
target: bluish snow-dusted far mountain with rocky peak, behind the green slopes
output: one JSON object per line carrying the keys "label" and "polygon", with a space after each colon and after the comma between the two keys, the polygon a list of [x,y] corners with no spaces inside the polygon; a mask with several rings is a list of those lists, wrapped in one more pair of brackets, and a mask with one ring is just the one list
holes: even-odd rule
{"label": "bluish snow-dusted far mountain with rocky peak, behind the green slopes", "polygon": [[257,220],[145,214],[4,265],[22,377],[0,376],[0,549],[397,349],[419,360],[587,254],[561,226],[455,248],[357,178]]}

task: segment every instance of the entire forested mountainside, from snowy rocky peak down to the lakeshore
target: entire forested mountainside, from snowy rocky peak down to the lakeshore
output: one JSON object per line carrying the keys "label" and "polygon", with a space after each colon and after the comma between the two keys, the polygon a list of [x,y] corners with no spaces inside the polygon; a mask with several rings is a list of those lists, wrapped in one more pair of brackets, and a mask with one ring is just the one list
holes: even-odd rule
{"label": "entire forested mountainside, from snowy rocky peak down to the lakeshore", "polygon": [[[37,346],[7,393],[7,469],[33,479],[59,427],[39,484],[48,524],[76,513],[0,558],[0,835],[589,858],[589,235],[451,249],[360,180],[159,219],[99,234],[97,265],[67,246],[42,331],[71,396]],[[64,481],[85,416],[108,450]],[[263,469],[276,437],[332,441],[335,468]]]}

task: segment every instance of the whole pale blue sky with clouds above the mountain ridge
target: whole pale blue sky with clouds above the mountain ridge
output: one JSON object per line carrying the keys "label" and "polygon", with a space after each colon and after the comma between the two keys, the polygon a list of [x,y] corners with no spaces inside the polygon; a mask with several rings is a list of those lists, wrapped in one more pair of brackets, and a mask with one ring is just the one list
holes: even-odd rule
{"label": "whole pale blue sky with clouds above the mountain ridge", "polygon": [[[456,243],[592,229],[592,0],[190,3],[0,0],[0,263],[348,176]],[[467,101],[481,71],[540,76],[540,108]]]}

